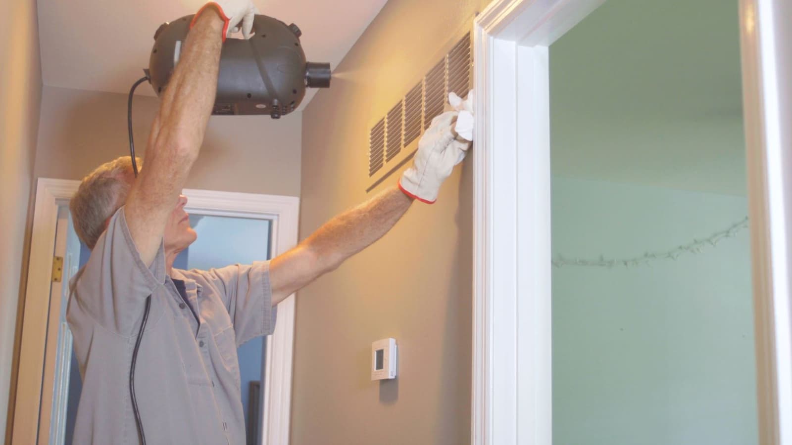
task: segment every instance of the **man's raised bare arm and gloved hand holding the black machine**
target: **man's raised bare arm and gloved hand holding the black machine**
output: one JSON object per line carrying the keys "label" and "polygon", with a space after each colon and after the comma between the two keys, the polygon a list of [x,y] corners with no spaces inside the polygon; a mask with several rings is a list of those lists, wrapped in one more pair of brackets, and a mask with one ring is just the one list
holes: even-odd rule
{"label": "man's raised bare arm and gloved hand holding the black machine", "polygon": [[132,186],[124,211],[145,264],[154,261],[168,215],[176,207],[204,142],[215,103],[225,33],[241,25],[243,34],[249,37],[254,12],[250,0],[222,0],[207,3],[192,21],[181,58],[151,125],[146,168]]}

